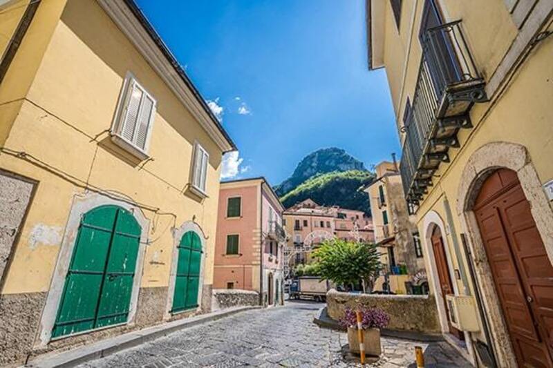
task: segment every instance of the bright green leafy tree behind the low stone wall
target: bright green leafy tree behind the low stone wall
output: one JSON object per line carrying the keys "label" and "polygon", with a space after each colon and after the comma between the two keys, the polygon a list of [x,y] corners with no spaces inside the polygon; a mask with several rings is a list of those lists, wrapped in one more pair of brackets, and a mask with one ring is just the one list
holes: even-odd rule
{"label": "bright green leafy tree behind the low stone wall", "polygon": [[350,286],[362,280],[371,291],[382,268],[380,253],[375,244],[326,240],[313,252],[315,267],[324,280]]}

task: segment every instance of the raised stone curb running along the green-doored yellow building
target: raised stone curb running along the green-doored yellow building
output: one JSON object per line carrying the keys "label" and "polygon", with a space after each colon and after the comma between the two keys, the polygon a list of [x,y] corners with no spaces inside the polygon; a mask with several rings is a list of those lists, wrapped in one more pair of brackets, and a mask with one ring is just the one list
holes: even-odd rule
{"label": "raised stone curb running along the green-doored yellow building", "polygon": [[94,342],[90,345],[84,345],[62,353],[50,356],[37,356],[27,363],[24,367],[33,368],[51,368],[51,367],[75,367],[90,360],[104,358],[118,351],[136,347],[151,340],[156,340],[162,336],[181,329],[187,329],[201,325],[206,322],[213,322],[221,318],[232,316],[233,314],[252,309],[261,309],[259,306],[236,307],[223,309],[213,313],[202,314],[191,318],[183,318],[182,320],[174,320],[153,327],[147,327],[138,331],[124,333],[113,338],[106,338]]}

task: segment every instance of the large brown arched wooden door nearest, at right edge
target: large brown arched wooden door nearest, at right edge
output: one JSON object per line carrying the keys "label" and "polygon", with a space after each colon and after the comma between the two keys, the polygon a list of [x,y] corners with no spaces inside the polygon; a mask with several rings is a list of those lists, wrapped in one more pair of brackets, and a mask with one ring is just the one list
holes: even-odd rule
{"label": "large brown arched wooden door nearest, at right edge", "polygon": [[521,367],[553,367],[553,267],[514,171],[483,184],[474,207]]}

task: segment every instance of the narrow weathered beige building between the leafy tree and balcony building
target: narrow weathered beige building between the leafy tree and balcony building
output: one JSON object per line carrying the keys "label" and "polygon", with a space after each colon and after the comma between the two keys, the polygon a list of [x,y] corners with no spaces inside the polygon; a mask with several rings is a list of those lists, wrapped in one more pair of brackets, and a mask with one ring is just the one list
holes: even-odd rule
{"label": "narrow weathered beige building between the leafy tree and balcony building", "polygon": [[371,201],[375,242],[385,273],[375,283],[375,290],[428,293],[422,244],[415,218],[406,206],[399,168],[395,162],[384,161],[375,171],[376,179],[364,189]]}

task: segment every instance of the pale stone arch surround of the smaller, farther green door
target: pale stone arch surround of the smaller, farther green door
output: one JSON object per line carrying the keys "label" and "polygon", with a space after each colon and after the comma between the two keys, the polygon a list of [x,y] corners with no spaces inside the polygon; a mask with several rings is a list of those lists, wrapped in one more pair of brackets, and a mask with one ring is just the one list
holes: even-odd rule
{"label": "pale stone arch surround of the smaller, farther green door", "polygon": [[[207,247],[205,245],[205,233],[203,229],[194,221],[183,222],[178,229],[173,229],[173,250],[171,251],[171,271],[169,271],[169,287],[167,288],[167,305],[165,308],[165,313],[163,318],[169,320],[171,318],[171,307],[173,305],[173,296],[175,293],[175,283],[176,283],[176,273],[177,273],[177,261],[178,261],[178,244],[180,243],[180,238],[182,235],[189,231],[194,231],[200,238],[202,243],[202,258],[200,261],[200,280],[198,287],[198,308],[196,311],[199,311],[202,308],[203,300],[203,280],[204,280],[204,269],[205,269],[205,256],[207,254]],[[209,290],[211,292],[211,290]]]}

